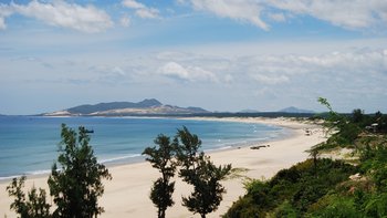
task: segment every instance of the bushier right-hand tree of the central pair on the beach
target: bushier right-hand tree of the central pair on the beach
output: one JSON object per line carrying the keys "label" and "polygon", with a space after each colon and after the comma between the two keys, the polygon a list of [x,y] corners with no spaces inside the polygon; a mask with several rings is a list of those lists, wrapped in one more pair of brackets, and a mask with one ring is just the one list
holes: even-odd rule
{"label": "bushier right-hand tree of the central pair on the beach", "polygon": [[217,167],[203,152],[199,152],[201,141],[187,127],[178,129],[174,139],[177,159],[181,165],[179,176],[194,186],[189,197],[182,197],[182,205],[202,218],[218,209],[224,187],[219,183],[231,172],[231,165]]}

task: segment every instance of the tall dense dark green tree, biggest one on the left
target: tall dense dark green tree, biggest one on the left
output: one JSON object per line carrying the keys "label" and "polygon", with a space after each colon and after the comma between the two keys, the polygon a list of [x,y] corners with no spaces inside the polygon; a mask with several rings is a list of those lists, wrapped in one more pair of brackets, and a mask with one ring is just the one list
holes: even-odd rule
{"label": "tall dense dark green tree, biggest one on the left", "polygon": [[[79,133],[62,124],[61,154],[49,177],[51,196],[57,208],[54,217],[77,218],[97,217],[103,212],[97,199],[104,193],[102,178],[112,179],[107,168],[97,163],[86,128]],[[64,145],[64,146],[63,146]]]}

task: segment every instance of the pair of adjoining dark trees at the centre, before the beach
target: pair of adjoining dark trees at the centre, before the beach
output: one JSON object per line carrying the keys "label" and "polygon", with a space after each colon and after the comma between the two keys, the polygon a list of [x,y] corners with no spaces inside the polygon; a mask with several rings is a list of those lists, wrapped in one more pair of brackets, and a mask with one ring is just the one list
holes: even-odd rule
{"label": "pair of adjoining dark trees at the centre, before the beach", "polygon": [[194,214],[206,217],[218,209],[222,200],[224,187],[220,184],[231,173],[231,165],[216,166],[203,152],[199,152],[201,141],[191,134],[187,127],[178,129],[174,142],[169,137],[159,135],[155,139],[157,147],[147,147],[147,160],[157,168],[163,177],[154,183],[150,199],[158,208],[158,217],[165,217],[167,207],[174,204],[171,196],[175,183],[170,178],[179,166],[179,177],[194,186],[189,197],[182,197],[182,205]]}

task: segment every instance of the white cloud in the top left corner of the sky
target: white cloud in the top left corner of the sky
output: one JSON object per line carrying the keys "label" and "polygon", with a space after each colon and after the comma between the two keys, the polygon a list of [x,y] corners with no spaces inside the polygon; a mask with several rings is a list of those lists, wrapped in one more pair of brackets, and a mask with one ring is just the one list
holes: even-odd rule
{"label": "white cloud in the top left corner of the sky", "polygon": [[82,32],[101,32],[111,28],[109,15],[93,6],[83,7],[62,0],[40,2],[33,0],[28,4],[2,4],[0,11],[8,10],[4,15],[0,12],[0,27],[4,28],[4,18],[19,13],[28,18],[41,20],[50,25],[70,28]]}

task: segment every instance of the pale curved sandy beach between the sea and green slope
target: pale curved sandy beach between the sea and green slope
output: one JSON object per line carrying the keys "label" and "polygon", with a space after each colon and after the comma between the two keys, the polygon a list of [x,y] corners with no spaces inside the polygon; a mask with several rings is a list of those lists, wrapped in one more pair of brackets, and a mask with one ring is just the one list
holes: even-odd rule
{"label": "pale curved sandy beach between the sea and green slope", "polygon": [[[249,123],[263,123],[268,125],[279,125],[293,131],[292,136],[274,142],[266,142],[259,145],[270,145],[260,149],[240,147],[227,150],[219,150],[208,154],[216,164],[232,164],[234,168],[248,169],[243,176],[250,178],[270,178],[282,168],[286,168],[307,158],[306,149],[311,148],[326,138],[321,126],[300,123],[289,118],[202,118],[213,121],[234,121]],[[305,129],[312,132],[305,134]],[[200,136],[199,136],[200,137]],[[257,146],[257,145],[254,145]],[[100,199],[100,205],[105,208],[105,212],[100,217],[157,217],[157,209],[148,198],[150,186],[159,174],[151,168],[149,163],[128,164],[109,167],[113,180],[105,180],[105,194]],[[12,201],[6,191],[9,183],[0,184],[0,217],[15,217],[9,210]],[[42,187],[49,191],[46,176],[29,178],[27,187]],[[243,178],[224,180],[227,194],[223,196],[219,209],[208,217],[220,217],[224,214],[239,196],[244,195]],[[191,187],[177,179],[174,194],[175,206],[168,208],[167,217],[199,217],[192,215],[181,206],[181,196],[189,195]],[[51,200],[51,198],[49,199]]]}

